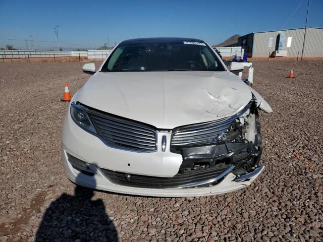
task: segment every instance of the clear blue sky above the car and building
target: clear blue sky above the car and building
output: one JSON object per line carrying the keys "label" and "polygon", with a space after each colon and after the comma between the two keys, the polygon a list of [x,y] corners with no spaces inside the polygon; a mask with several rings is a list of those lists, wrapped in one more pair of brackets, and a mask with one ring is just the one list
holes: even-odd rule
{"label": "clear blue sky above the car and building", "polygon": [[[243,4],[242,4],[243,3]],[[63,48],[109,45],[138,37],[193,37],[217,44],[234,34],[304,27],[307,1],[7,1],[0,0],[0,38],[56,41]],[[296,11],[295,11],[296,10]],[[292,15],[294,13],[294,15]],[[323,0],[311,0],[308,26],[323,27]],[[291,16],[292,15],[292,16]],[[0,47],[25,41],[0,39]],[[55,43],[33,42],[56,48]]]}

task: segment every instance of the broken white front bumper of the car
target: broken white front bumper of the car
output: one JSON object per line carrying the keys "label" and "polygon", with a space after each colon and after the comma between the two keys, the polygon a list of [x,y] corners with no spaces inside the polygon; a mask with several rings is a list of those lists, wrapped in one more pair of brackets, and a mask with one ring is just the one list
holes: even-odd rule
{"label": "broken white front bumper of the car", "polygon": [[[118,185],[107,178],[101,168],[158,177],[173,177],[176,175],[183,159],[180,154],[170,152],[171,134],[158,133],[159,141],[161,141],[161,136],[167,135],[168,143],[165,152],[161,151],[161,149],[150,153],[115,149],[105,145],[99,138],[78,127],[69,113],[70,110],[68,110],[63,124],[62,160],[67,177],[80,186],[141,196],[207,196],[228,193],[249,186],[264,168],[259,166],[253,173],[247,174],[249,176],[246,178],[240,176],[239,181],[236,179],[236,175],[230,172],[221,177],[219,183],[209,187],[152,189]],[[74,168],[68,159],[67,153],[88,163],[91,169],[95,170],[95,174],[88,175]]]}

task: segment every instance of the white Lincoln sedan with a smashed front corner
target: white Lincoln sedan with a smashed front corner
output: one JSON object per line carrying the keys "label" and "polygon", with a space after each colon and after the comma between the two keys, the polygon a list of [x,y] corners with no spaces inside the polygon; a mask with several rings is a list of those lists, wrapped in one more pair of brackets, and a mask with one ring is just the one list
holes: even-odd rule
{"label": "white Lincoln sedan with a smashed front corner", "polygon": [[187,197],[244,188],[261,173],[259,109],[272,108],[204,41],[118,44],[75,93],[62,131],[74,183]]}

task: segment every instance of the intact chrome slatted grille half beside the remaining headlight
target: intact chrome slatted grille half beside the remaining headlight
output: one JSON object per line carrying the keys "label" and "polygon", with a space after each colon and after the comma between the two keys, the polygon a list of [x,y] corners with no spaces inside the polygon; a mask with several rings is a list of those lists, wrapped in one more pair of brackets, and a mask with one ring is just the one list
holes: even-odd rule
{"label": "intact chrome slatted grille half beside the remaining headlight", "polygon": [[88,115],[107,144],[141,152],[157,150],[157,133],[153,128],[93,110],[88,110]]}

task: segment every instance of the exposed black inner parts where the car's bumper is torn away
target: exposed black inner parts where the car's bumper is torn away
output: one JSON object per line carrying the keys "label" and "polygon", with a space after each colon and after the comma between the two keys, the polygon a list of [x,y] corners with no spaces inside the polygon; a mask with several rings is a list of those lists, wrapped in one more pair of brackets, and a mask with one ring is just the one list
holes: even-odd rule
{"label": "exposed black inner parts where the car's bumper is torn away", "polygon": [[183,156],[179,173],[228,165],[235,166],[233,173],[238,176],[252,171],[259,164],[262,153],[256,103],[251,102],[250,109],[234,119],[227,132],[214,143],[171,146],[171,152]]}

